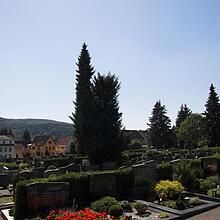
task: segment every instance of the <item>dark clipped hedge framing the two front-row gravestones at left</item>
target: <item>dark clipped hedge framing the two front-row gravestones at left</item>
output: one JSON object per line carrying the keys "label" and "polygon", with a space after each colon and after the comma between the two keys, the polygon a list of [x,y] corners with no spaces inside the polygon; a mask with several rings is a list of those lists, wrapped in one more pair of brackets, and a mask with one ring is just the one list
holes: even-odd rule
{"label": "dark clipped hedge framing the two front-row gravestones at left", "polygon": [[[105,171],[106,172],[106,171]],[[116,175],[116,194],[118,198],[123,198],[130,194],[132,184],[131,169],[123,169],[114,172]],[[77,204],[83,205],[85,201],[91,201],[90,196],[89,177],[95,173],[68,173],[61,176],[22,180],[16,184],[15,189],[15,219],[21,220],[30,215],[30,210],[27,209],[27,191],[26,185],[33,182],[68,182],[70,184],[69,192],[69,207],[72,207],[73,199],[75,198]]]}

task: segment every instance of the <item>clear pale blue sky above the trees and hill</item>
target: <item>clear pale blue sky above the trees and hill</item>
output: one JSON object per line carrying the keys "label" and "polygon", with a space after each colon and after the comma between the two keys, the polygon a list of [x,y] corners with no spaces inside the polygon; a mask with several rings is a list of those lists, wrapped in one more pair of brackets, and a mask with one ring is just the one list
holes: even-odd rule
{"label": "clear pale blue sky above the trees and hill", "polygon": [[220,94],[219,0],[0,0],[0,116],[70,122],[83,42],[121,81],[127,129],[146,129],[161,100],[204,111]]}

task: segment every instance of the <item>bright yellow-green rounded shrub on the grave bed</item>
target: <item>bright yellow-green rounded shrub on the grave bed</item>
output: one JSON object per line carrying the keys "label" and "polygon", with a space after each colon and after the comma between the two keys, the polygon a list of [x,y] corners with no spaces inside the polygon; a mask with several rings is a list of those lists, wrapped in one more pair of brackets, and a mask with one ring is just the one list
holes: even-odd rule
{"label": "bright yellow-green rounded shrub on the grave bed", "polygon": [[156,195],[160,201],[178,199],[183,191],[184,187],[178,181],[161,180],[155,187]]}

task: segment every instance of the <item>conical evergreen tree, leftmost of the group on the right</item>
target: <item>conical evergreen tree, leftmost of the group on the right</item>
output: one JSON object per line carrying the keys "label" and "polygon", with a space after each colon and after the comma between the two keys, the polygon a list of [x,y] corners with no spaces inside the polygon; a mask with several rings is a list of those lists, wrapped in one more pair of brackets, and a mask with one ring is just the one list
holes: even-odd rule
{"label": "conical evergreen tree, leftmost of the group on the right", "polygon": [[158,101],[154,105],[152,116],[149,118],[148,135],[151,145],[156,148],[171,147],[171,121],[166,116],[166,108]]}

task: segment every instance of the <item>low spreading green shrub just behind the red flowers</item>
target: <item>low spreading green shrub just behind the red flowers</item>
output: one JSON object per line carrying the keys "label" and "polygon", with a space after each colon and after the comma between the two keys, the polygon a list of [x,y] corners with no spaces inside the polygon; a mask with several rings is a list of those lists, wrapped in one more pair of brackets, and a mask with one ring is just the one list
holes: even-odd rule
{"label": "low spreading green shrub just behind the red flowers", "polygon": [[92,203],[91,209],[96,212],[108,212],[109,208],[112,205],[117,205],[118,202],[115,198],[111,196],[103,197],[102,199],[99,199]]}

